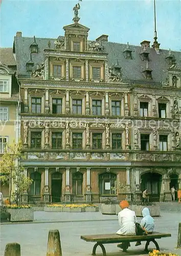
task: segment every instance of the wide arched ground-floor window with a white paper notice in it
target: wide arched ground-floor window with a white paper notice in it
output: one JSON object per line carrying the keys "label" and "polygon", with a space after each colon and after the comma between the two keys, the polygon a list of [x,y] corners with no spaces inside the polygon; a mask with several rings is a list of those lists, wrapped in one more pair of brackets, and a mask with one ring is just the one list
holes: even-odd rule
{"label": "wide arched ground-floor window with a white paper notice in it", "polygon": [[116,194],[117,176],[112,173],[103,173],[99,175],[99,194]]}

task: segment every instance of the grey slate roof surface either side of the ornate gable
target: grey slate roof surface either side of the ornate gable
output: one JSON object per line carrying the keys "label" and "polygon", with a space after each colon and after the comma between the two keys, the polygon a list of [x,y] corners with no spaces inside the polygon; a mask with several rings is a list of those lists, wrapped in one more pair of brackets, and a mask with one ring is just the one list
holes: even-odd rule
{"label": "grey slate roof surface either side of the ornate gable", "polygon": [[[62,36],[63,38],[63,36]],[[33,37],[15,37],[14,46],[17,61],[17,73],[20,77],[29,77],[30,74],[26,69],[26,62],[30,59],[30,45],[34,41]],[[38,53],[32,53],[32,60],[35,63],[43,61],[44,49],[49,49],[49,41],[51,42],[50,49],[55,49],[53,38],[36,38],[38,44]],[[121,73],[123,81],[137,81],[145,82],[143,71],[146,67],[146,61],[142,60],[140,53],[143,50],[141,46],[129,46],[132,50],[132,59],[126,59],[124,51],[127,47],[126,44],[118,44],[117,42],[102,42],[108,53],[108,65],[116,64],[119,62],[121,66]],[[149,52],[149,68],[152,70],[152,81],[161,83],[165,81],[168,75],[167,69],[170,67],[166,61],[166,57],[169,55],[168,50],[160,50],[160,54],[157,54],[153,48],[148,48]],[[181,52],[172,51],[175,57],[176,65],[181,67]]]}

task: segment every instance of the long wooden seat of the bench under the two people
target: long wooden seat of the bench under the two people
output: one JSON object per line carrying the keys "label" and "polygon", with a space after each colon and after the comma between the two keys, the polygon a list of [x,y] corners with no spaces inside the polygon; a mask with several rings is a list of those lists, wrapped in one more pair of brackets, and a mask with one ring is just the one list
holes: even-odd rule
{"label": "long wooden seat of the bench under the two people", "polygon": [[147,236],[120,236],[119,234],[90,234],[87,236],[81,236],[81,239],[87,242],[104,242],[104,243],[119,243],[122,241],[146,241],[149,239],[160,239],[171,237],[170,233],[159,233],[153,232],[152,234],[148,234]]}

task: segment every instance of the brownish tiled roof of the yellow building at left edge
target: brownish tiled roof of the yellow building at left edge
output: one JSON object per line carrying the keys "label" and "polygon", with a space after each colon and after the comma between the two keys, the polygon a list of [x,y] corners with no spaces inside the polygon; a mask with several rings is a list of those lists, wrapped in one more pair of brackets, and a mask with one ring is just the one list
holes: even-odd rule
{"label": "brownish tiled roof of the yellow building at left edge", "polygon": [[16,66],[12,48],[0,48],[0,59],[2,64]]}

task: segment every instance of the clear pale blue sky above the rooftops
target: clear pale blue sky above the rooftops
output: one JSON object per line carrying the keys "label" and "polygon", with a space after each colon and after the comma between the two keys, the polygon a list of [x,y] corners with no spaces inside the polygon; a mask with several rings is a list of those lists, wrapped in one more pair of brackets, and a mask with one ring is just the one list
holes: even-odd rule
{"label": "clear pale blue sky above the rooftops", "polygon": [[[1,47],[12,47],[16,31],[22,36],[57,38],[72,24],[78,0],[0,0]],[[90,28],[89,40],[102,34],[108,40],[140,45],[153,42],[154,0],[82,0],[79,17]],[[181,0],[155,0],[157,41],[161,49],[181,51]]]}

